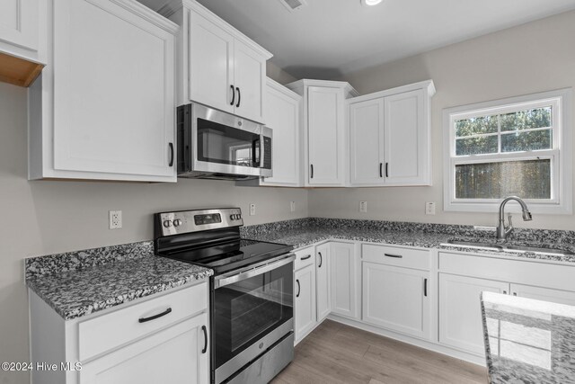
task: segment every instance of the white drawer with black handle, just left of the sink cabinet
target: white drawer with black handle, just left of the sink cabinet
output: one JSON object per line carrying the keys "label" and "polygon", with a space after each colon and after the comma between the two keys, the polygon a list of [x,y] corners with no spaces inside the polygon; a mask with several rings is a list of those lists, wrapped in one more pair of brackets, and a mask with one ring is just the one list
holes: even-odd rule
{"label": "white drawer with black handle, just left of the sink cabinet", "polygon": [[364,244],[361,256],[366,262],[429,271],[430,256],[425,250]]}

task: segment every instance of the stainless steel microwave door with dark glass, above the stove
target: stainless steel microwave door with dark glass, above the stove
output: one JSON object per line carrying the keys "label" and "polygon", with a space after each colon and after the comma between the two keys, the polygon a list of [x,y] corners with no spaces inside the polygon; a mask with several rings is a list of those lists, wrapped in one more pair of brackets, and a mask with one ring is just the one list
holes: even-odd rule
{"label": "stainless steel microwave door with dark glass, above the stove", "polygon": [[265,156],[261,125],[200,104],[192,105],[193,171],[260,176]]}

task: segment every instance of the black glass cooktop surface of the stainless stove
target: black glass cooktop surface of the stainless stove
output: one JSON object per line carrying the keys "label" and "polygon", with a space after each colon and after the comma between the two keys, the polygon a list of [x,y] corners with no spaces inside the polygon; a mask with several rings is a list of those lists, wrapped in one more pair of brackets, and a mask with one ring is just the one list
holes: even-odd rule
{"label": "black glass cooktop surface of the stainless stove", "polygon": [[293,246],[285,244],[239,239],[211,246],[190,246],[177,251],[161,252],[159,255],[185,263],[198,264],[213,269],[214,274],[222,274],[287,254],[292,249]]}

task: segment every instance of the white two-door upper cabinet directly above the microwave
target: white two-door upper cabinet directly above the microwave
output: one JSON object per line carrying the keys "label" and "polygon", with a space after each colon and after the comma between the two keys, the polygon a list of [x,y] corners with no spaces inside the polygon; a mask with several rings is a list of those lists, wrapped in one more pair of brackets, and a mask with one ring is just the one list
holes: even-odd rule
{"label": "white two-door upper cabinet directly above the microwave", "polygon": [[159,11],[178,23],[178,103],[202,103],[264,123],[270,52],[193,0]]}

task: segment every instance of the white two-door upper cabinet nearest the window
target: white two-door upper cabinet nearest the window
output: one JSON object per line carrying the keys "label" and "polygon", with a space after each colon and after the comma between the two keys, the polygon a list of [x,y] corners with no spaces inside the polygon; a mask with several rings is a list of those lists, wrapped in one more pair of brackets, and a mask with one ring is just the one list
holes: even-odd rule
{"label": "white two-door upper cabinet nearest the window", "polygon": [[351,186],[431,185],[432,81],[349,99]]}

